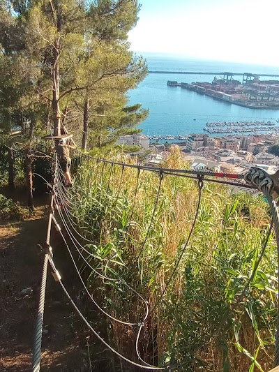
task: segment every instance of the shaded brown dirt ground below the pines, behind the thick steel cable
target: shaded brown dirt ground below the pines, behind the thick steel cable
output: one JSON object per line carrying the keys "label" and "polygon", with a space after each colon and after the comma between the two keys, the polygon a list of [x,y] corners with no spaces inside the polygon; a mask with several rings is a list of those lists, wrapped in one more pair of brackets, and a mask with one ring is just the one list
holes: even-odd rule
{"label": "shaded brown dirt ground below the pines, behind the thick steel cable", "polygon": [[[36,320],[38,291],[43,255],[37,244],[43,245],[47,218],[42,207],[28,221],[0,221],[0,371],[30,371],[33,329]],[[65,247],[52,231],[55,240],[56,265],[70,289],[68,262],[63,260]],[[22,290],[31,288],[30,295]],[[27,290],[28,292],[28,290]],[[78,332],[77,332],[78,330]],[[43,335],[41,371],[89,371],[86,355],[86,333],[73,314],[50,271]]]}

